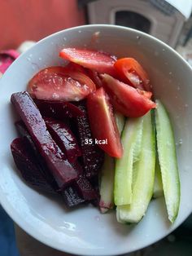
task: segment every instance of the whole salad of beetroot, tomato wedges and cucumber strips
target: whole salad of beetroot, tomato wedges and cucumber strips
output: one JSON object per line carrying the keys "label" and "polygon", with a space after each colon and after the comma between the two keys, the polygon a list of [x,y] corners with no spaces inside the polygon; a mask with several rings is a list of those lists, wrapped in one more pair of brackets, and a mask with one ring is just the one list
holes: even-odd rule
{"label": "whole salad of beetroot, tomato wedges and cucumber strips", "polygon": [[102,51],[64,48],[59,56],[68,64],[40,70],[26,91],[11,95],[20,116],[11,152],[24,181],[69,208],[116,210],[120,223],[138,223],[151,199],[164,196],[173,223],[180,205],[174,135],[145,69]]}

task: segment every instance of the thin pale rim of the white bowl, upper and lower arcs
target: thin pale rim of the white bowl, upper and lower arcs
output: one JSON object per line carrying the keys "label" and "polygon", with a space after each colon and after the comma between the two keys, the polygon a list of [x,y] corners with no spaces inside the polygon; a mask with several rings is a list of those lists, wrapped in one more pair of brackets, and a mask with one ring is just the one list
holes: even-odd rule
{"label": "thin pale rim of the white bowl, upper and lower arcs", "polygon": [[[171,46],[168,46],[165,42],[159,40],[158,38],[155,38],[153,36],[151,36],[150,34],[144,33],[142,31],[139,31],[137,29],[131,29],[128,27],[124,27],[124,26],[120,26],[120,25],[114,25],[114,24],[85,24],[85,25],[81,25],[81,26],[76,26],[76,27],[72,27],[69,29],[63,29],[63,30],[59,30],[56,33],[52,33],[49,36],[47,36],[46,38],[42,38],[40,41],[36,42],[35,45],[33,45],[32,47],[30,47],[27,51],[24,51],[24,53],[22,53],[15,61],[13,64],[11,64],[11,67],[7,68],[7,71],[3,74],[1,80],[0,80],[0,84],[3,83],[3,77],[9,73],[10,68],[14,68],[15,65],[17,65],[17,62],[20,60],[21,57],[23,57],[23,55],[28,55],[28,51],[33,50],[33,48],[36,48],[39,44],[41,44],[41,42],[46,41],[47,39],[50,39],[52,37],[55,37],[56,35],[62,34],[66,31],[72,31],[72,30],[77,30],[77,29],[85,29],[85,28],[93,28],[93,29],[102,29],[102,28],[110,28],[110,29],[123,29],[124,32],[133,32],[133,33],[137,33],[137,35],[141,35],[145,38],[149,38],[150,40],[153,40],[154,42],[158,42],[161,46],[164,46],[165,48],[168,49],[168,51],[172,51],[172,54],[177,55],[177,58],[181,59],[181,61],[183,63],[185,63],[185,65],[190,69],[190,71],[192,70],[192,67],[190,66],[190,64],[177,52],[175,51]],[[59,246],[55,245],[55,244],[51,244],[49,239],[46,238],[46,236],[38,236],[37,232],[36,232],[36,228],[31,228],[28,226],[25,226],[24,223],[22,222],[22,220],[20,219],[19,214],[14,214],[14,211],[11,210],[11,207],[9,207],[9,205],[7,205],[6,201],[3,200],[2,196],[0,196],[0,203],[2,205],[2,208],[7,212],[7,214],[11,217],[11,219],[20,227],[24,230],[24,232],[28,233],[29,236],[32,236],[34,239],[36,239],[37,241],[40,241],[42,244],[47,245],[49,247],[52,247],[54,249],[57,249],[59,251],[68,253],[68,254],[76,254],[76,255],[90,255],[89,251],[87,251],[84,248],[75,248],[72,246],[67,246],[66,249],[63,248],[61,249]],[[166,236],[168,236],[168,234],[170,234],[173,230],[175,230],[178,226],[181,225],[181,223],[183,223],[185,221],[186,218],[188,218],[190,216],[190,214],[192,213],[192,209],[189,212],[189,214],[187,214],[187,216],[185,216],[185,218],[181,218],[181,222],[177,223],[174,228],[170,229],[169,232],[166,232]],[[162,239],[164,237],[160,236],[159,238],[154,239],[153,241],[151,240],[151,243],[146,245],[152,245],[155,242],[159,241],[160,239]],[[64,243],[63,243],[64,245]],[[133,251],[142,249],[143,246],[138,246],[137,249],[133,249]],[[126,249],[120,249],[118,252],[119,254],[126,254],[127,250]],[[97,254],[94,255],[103,255],[103,256],[113,256],[113,255],[117,255],[117,253],[114,254],[107,254],[107,253],[100,253],[98,252]]]}

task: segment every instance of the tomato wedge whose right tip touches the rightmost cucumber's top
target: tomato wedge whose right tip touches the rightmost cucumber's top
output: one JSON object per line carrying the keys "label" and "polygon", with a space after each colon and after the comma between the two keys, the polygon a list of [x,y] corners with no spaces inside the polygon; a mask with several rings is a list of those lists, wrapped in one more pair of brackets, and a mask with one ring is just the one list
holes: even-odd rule
{"label": "tomato wedge whose right tip touches the rightmost cucumber's top", "polygon": [[141,94],[141,90],[120,82],[104,74],[103,86],[111,99],[111,104],[126,117],[142,117],[156,104]]}

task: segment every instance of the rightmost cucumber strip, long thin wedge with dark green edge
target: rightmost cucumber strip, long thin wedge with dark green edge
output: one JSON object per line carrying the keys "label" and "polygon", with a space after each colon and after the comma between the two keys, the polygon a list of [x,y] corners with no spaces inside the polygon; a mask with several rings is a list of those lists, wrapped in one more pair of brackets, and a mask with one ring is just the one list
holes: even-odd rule
{"label": "rightmost cucumber strip, long thin wedge with dark green edge", "polygon": [[180,205],[180,180],[172,124],[164,105],[156,100],[155,109],[157,150],[168,219],[173,223]]}

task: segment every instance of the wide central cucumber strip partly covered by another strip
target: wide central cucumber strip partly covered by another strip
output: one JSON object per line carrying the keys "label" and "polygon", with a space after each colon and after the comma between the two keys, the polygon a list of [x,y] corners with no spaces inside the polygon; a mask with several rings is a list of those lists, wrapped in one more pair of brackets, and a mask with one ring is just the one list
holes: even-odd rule
{"label": "wide central cucumber strip partly covered by another strip", "polygon": [[155,132],[151,112],[143,117],[142,149],[139,161],[134,165],[133,200],[130,205],[119,205],[116,209],[120,223],[138,223],[151,201],[155,179]]}

